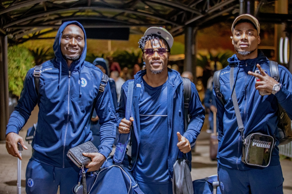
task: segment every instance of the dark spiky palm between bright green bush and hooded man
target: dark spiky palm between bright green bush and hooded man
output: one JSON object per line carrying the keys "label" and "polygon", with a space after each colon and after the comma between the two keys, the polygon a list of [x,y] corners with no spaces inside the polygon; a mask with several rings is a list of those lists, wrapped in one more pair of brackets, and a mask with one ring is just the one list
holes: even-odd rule
{"label": "dark spiky palm between bright green bush and hooded man", "polygon": [[53,52],[50,52],[52,47],[49,48],[36,48],[34,50],[30,50],[32,56],[34,57],[34,62],[36,65],[40,65],[45,61],[48,61],[55,57]]}

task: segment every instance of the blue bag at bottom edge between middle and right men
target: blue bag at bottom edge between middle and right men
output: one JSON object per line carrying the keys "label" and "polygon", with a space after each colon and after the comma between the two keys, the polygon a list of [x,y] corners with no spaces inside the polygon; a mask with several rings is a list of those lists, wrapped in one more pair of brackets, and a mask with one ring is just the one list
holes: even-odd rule
{"label": "blue bag at bottom edge between middle and right men", "polygon": [[194,194],[221,194],[217,174],[193,181]]}

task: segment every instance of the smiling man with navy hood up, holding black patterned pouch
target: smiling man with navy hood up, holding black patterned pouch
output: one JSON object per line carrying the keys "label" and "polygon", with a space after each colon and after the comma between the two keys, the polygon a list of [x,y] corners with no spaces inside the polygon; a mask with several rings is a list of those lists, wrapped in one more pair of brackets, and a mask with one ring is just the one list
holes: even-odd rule
{"label": "smiling man with navy hood up, holding black patterned pouch", "polygon": [[[109,84],[99,91],[102,71],[84,61],[86,34],[79,22],[64,22],[53,45],[55,58],[42,64],[39,95],[34,85],[34,69],[30,69],[24,81],[18,105],[11,114],[6,129],[6,148],[9,154],[21,156],[17,142],[24,144],[18,132],[25,125],[32,110],[38,104],[39,115],[34,152],[26,170],[26,193],[72,193],[78,182],[79,168],[67,157],[70,148],[90,141],[91,110],[100,121],[101,144],[99,153],[84,153],[92,162],[88,171],[98,170],[112,151],[116,134],[116,118]],[[96,103],[94,103],[96,102]]]}

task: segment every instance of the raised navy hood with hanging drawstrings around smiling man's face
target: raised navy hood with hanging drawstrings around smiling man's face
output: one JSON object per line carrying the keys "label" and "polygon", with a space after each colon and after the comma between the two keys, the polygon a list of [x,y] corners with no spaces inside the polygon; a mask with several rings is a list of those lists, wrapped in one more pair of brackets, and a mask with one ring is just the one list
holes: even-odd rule
{"label": "raised navy hood with hanging drawstrings around smiling man's face", "polygon": [[[60,85],[61,85],[62,68],[68,70],[67,62],[63,57],[63,54],[62,54],[62,51],[61,51],[61,47],[60,47],[60,43],[61,43],[62,33],[63,33],[64,29],[70,24],[74,24],[74,25],[79,26],[82,29],[83,33],[84,33],[84,42],[85,42],[85,44],[84,44],[84,48],[83,48],[82,54],[80,55],[79,59],[73,61],[71,66],[69,67],[69,71],[73,71],[74,69],[78,70],[78,73],[79,73],[79,95],[81,96],[82,95],[82,92],[81,92],[81,84],[82,84],[82,82],[81,82],[81,65],[83,65],[83,62],[85,61],[85,58],[86,58],[87,44],[86,44],[85,30],[84,30],[83,26],[77,21],[64,22],[60,26],[60,28],[58,30],[58,33],[56,35],[55,41],[54,41],[54,45],[53,45],[53,50],[54,50],[54,53],[55,53],[54,61],[59,66],[59,71],[60,71],[59,72],[58,89],[60,89]],[[78,67],[78,69],[76,67]]]}

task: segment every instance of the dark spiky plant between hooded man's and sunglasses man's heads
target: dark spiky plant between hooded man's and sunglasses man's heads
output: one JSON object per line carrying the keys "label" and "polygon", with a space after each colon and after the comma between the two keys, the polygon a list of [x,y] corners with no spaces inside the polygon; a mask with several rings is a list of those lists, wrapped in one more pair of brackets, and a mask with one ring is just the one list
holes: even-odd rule
{"label": "dark spiky plant between hooded man's and sunglasses man's heads", "polygon": [[120,64],[121,69],[124,67],[132,69],[134,65],[138,63],[138,59],[142,59],[142,51],[141,49],[133,52],[117,50],[112,54],[112,57],[114,61]]}

